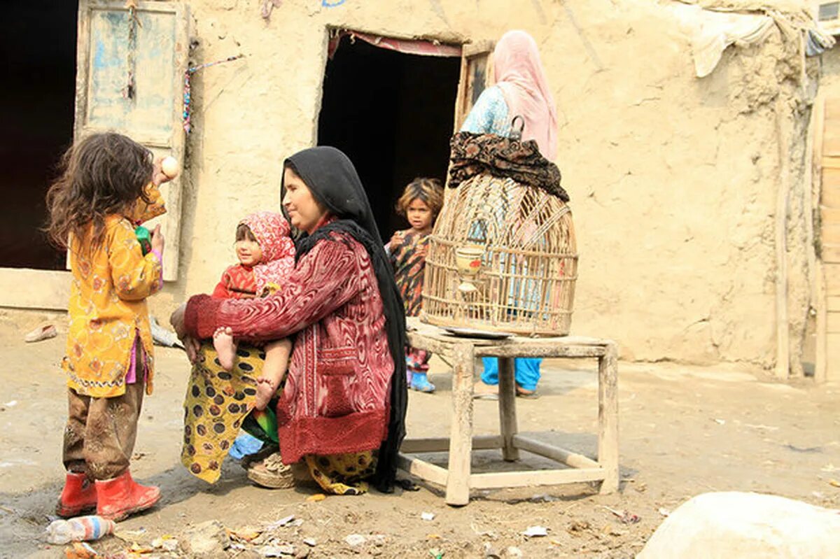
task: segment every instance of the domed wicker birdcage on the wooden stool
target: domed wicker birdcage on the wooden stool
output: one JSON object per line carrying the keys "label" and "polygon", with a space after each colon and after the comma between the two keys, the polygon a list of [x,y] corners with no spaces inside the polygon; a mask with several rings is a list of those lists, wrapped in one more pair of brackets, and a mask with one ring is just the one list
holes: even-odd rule
{"label": "domed wicker birdcage on the wooden stool", "polygon": [[569,333],[577,279],[569,206],[483,173],[448,189],[428,241],[423,321],[524,335]]}

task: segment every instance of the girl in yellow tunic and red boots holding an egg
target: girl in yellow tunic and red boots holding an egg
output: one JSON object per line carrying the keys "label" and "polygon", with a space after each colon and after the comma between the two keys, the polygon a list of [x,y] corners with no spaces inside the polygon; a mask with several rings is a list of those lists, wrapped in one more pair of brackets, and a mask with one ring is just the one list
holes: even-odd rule
{"label": "girl in yellow tunic and red boots holding an egg", "polygon": [[[129,460],[144,392],[152,389],[152,339],[146,297],[160,290],[160,227],[144,254],[135,227],[165,212],[167,180],[152,154],[117,133],[71,147],[50,187],[50,238],[70,254],[67,374],[67,470],[58,514],[87,509],[120,520],[148,509],[160,489],[134,483]],[[69,240],[69,242],[68,242]],[[94,483],[95,482],[95,483]]]}

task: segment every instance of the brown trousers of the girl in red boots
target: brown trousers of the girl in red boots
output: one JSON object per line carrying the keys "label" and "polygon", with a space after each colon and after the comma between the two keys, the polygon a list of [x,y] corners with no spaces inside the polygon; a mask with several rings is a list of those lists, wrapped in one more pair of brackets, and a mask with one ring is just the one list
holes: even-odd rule
{"label": "brown trousers of the girl in red boots", "polygon": [[129,468],[145,383],[126,384],[125,394],[92,398],[67,389],[70,403],[64,430],[64,467],[91,479],[116,478]]}

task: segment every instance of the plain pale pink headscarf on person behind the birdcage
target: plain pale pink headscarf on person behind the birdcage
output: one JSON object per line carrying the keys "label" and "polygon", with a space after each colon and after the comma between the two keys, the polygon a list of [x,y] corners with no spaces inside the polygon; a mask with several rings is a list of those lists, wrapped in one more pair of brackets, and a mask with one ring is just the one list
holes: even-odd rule
{"label": "plain pale pink headscarf on person behind the birdcage", "polygon": [[496,86],[507,102],[508,116],[525,120],[522,139],[537,140],[543,157],[557,157],[557,109],[539,61],[537,42],[524,31],[508,31],[493,50]]}

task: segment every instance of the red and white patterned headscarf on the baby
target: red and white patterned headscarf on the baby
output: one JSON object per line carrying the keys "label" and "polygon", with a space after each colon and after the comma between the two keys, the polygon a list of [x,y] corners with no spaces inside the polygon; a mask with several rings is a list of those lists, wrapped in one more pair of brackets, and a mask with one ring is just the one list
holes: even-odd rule
{"label": "red and white patterned headscarf on the baby", "polygon": [[283,285],[291,270],[295,269],[295,243],[289,236],[291,227],[286,217],[276,212],[258,212],[239,223],[248,226],[263,251],[260,264],[254,266],[257,295],[262,293],[265,285]]}

